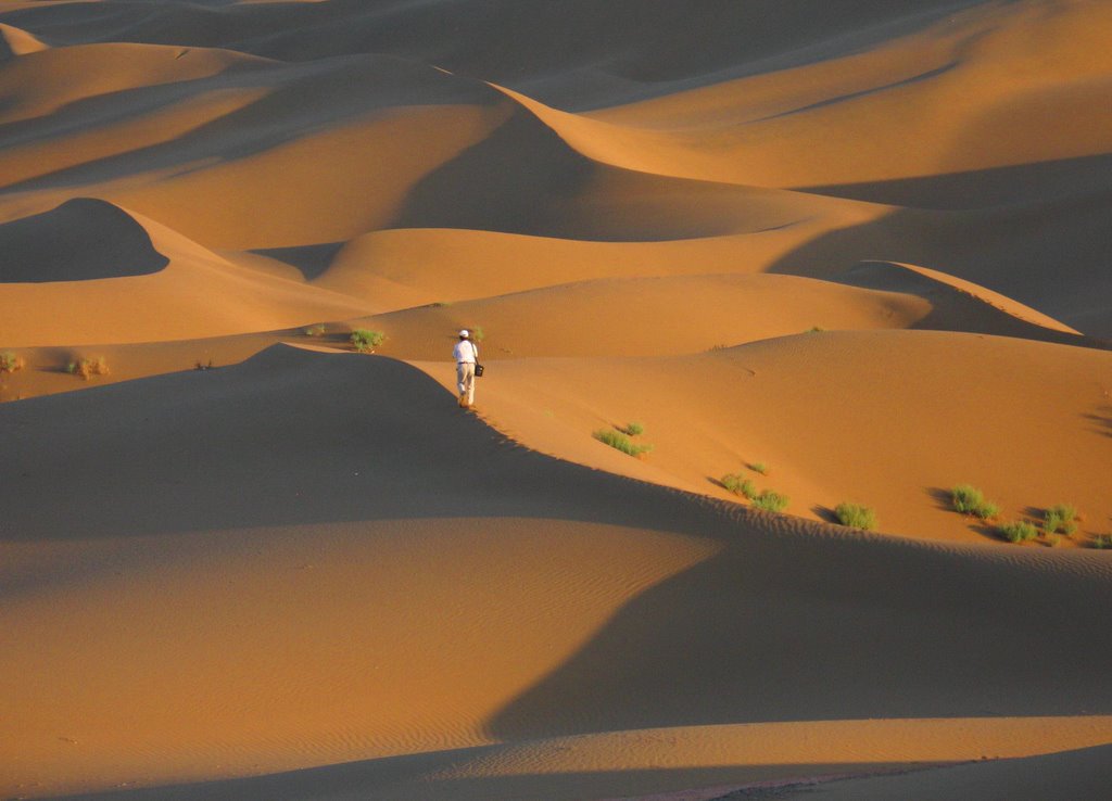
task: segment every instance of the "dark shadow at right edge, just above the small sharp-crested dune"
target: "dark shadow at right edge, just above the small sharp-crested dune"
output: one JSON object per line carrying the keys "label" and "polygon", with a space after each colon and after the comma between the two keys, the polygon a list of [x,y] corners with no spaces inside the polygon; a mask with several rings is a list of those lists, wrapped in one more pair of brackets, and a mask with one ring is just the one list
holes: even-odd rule
{"label": "dark shadow at right edge, just above the small sharp-crested dune", "polygon": [[[893,186],[897,193],[890,193]],[[863,261],[929,267],[1091,334],[1079,344],[1106,349],[1112,154],[856,184],[843,197],[920,208],[823,234],[784,256],[770,272],[830,280]]]}

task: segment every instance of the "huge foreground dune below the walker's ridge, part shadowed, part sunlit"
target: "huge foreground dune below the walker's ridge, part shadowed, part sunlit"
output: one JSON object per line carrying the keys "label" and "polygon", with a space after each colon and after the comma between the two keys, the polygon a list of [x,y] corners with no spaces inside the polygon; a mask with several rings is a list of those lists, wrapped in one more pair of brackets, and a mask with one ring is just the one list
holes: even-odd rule
{"label": "huge foreground dune below the walker's ridge, part shadowed, part sunlit", "polygon": [[[683,727],[1066,715],[1079,693],[1112,709],[1108,642],[1075,624],[1112,580],[1100,554],[701,501],[507,442],[393,360],[277,348],[0,419],[6,792],[646,727],[698,750],[708,732]],[[1031,597],[1055,603],[1016,615]],[[1083,745],[1102,721],[1048,725]],[[996,725],[934,752],[862,730],[821,768],[1044,745],[1046,727]],[[738,768],[717,778],[753,775],[735,735],[711,735]],[[761,775],[806,772],[806,738],[764,741],[781,767]],[[492,764],[620,770],[637,752],[569,744]],[[498,774],[476,765],[471,798]]]}

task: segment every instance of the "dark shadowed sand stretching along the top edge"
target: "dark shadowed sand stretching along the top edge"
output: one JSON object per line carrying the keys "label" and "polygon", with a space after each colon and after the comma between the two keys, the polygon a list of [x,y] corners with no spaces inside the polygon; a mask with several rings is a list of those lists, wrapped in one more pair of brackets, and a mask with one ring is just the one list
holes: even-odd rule
{"label": "dark shadowed sand stretching along the top edge", "polygon": [[[6,21],[59,43],[221,47],[286,61],[389,53],[584,110],[862,52],[979,4],[747,0],[739,9],[736,0],[701,0],[695,12],[678,0],[332,0],[276,13],[271,4],[221,1],[47,6],[8,12]],[[599,92],[592,72],[617,80]]]}

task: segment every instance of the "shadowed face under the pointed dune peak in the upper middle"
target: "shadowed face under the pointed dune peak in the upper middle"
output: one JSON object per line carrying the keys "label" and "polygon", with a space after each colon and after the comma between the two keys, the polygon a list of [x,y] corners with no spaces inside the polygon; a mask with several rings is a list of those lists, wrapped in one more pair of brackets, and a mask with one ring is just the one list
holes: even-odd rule
{"label": "shadowed face under the pointed dune peak in the upper middle", "polygon": [[755,213],[752,191],[588,159],[515,106],[489,137],[410,190],[390,228],[456,228],[595,242],[661,242],[796,222]]}

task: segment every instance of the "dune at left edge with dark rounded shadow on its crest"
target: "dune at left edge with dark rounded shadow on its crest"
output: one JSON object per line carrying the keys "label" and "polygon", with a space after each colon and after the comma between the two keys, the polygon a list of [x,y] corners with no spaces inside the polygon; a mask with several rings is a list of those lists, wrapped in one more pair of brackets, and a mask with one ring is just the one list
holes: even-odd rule
{"label": "dune at left edge with dark rounded shadow on its crest", "polygon": [[237,266],[100,200],[0,226],[0,341],[111,344],[259,331],[367,306]]}

